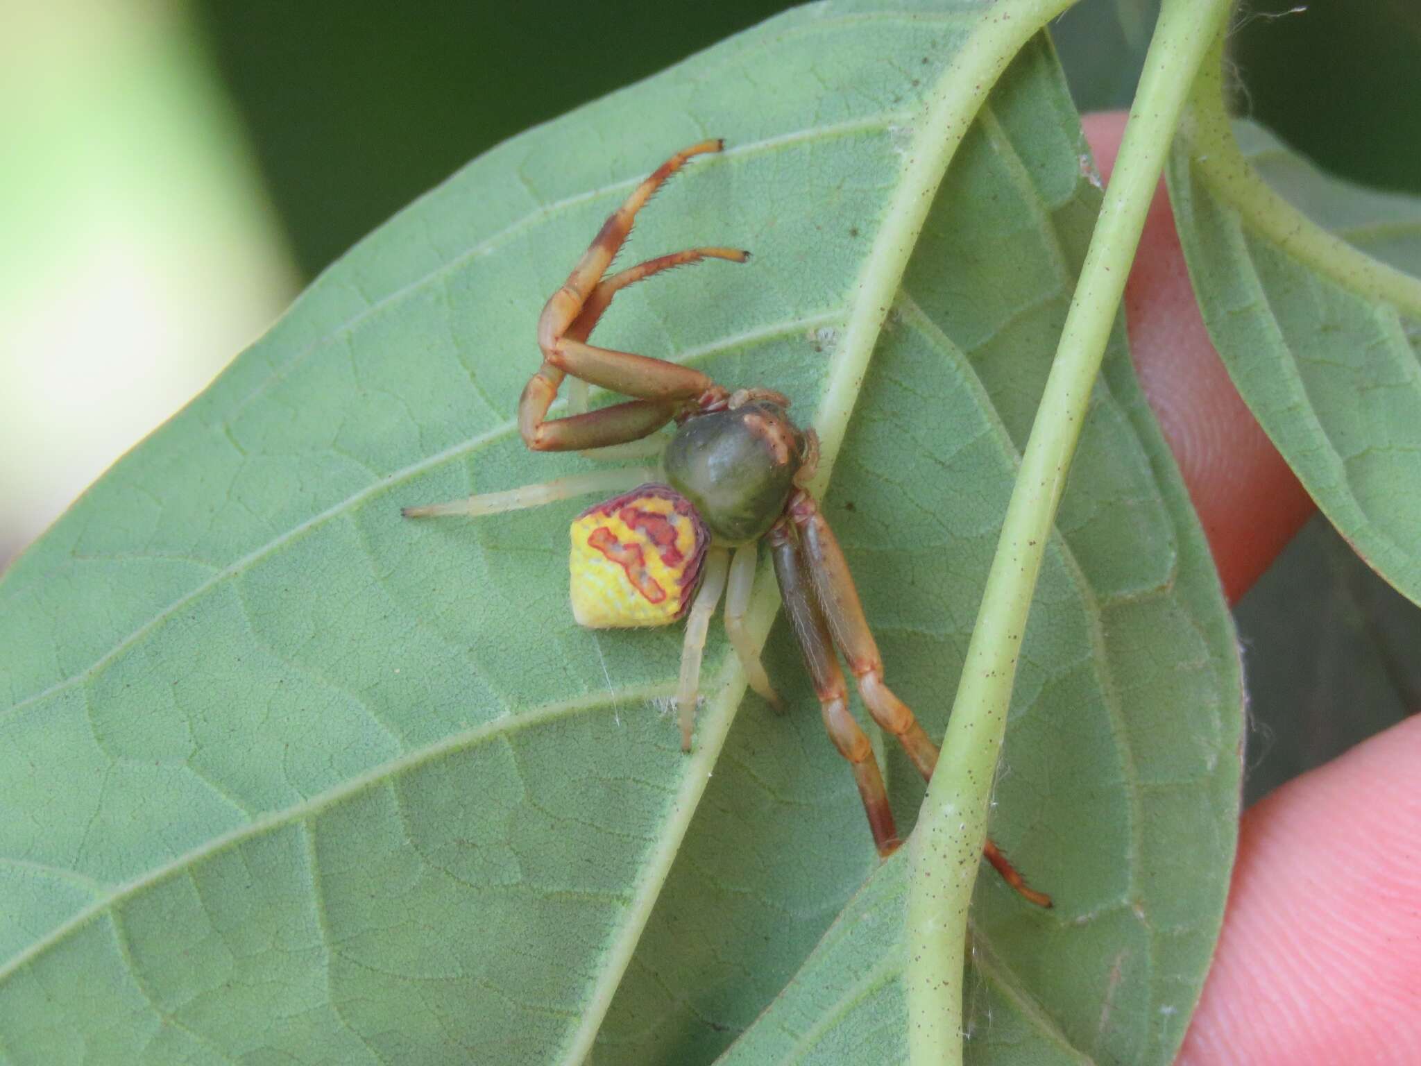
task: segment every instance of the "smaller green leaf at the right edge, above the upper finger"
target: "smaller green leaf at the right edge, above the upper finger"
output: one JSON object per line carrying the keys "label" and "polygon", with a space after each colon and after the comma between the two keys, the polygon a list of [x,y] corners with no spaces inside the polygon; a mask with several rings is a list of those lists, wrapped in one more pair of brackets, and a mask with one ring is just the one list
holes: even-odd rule
{"label": "smaller green leaf at the right edge, above the upper finger", "polygon": [[1421,603],[1421,199],[1238,138],[1201,82],[1168,178],[1209,337],[1317,506]]}

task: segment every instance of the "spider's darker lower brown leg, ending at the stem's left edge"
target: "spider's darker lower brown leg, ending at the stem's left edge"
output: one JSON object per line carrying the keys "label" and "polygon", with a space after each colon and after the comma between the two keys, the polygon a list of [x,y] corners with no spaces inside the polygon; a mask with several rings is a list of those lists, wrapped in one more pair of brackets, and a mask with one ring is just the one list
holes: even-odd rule
{"label": "spider's darker lower brown leg, ending at the stem's left edge", "polygon": [[858,797],[868,816],[868,829],[874,834],[874,847],[880,856],[891,856],[898,850],[898,830],[894,827],[892,810],[888,806],[888,792],[884,789],[878,760],[867,733],[848,714],[848,689],[844,675],[834,658],[834,645],[828,637],[824,614],[814,598],[804,561],[794,544],[793,529],[783,519],[770,530],[770,553],[774,559],[774,576],[784,597],[784,610],[799,638],[804,667],[814,681],[824,715],[824,728],[838,753],[848,759],[858,785]]}

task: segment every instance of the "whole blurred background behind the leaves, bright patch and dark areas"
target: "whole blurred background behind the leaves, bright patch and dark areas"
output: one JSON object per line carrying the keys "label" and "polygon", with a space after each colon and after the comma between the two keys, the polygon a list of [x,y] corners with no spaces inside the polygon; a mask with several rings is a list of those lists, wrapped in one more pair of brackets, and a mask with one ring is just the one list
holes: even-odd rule
{"label": "whole blurred background behind the leaves, bright patch and dark areas", "polygon": [[[0,566],[415,196],[787,6],[0,0]],[[1154,9],[1053,27],[1081,109]],[[1231,55],[1242,112],[1421,193],[1417,0],[1255,3]],[[1421,706],[1421,611],[1319,520],[1238,620],[1249,799]]]}

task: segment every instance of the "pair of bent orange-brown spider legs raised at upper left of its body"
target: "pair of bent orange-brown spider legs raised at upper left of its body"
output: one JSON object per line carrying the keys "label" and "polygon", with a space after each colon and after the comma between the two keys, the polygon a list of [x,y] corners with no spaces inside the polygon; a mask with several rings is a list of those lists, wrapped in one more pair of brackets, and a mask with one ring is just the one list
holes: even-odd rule
{"label": "pair of bent orange-brown spider legs raised at upper left of its body", "polygon": [[[574,331],[573,327],[580,324],[588,300],[601,283],[603,273],[631,232],[637,212],[645,206],[662,182],[681,169],[686,159],[703,152],[718,152],[722,146],[722,141],[703,141],[676,152],[652,172],[632,190],[627,202],[608,216],[583,259],[568,274],[567,283],[549,298],[537,328],[543,365],[529,379],[519,401],[519,432],[529,448],[534,451],[583,451],[637,441],[671,421],[679,402],[693,399],[713,387],[710,378],[693,368],[587,344],[585,338],[591,325],[595,324],[595,316],[591,321],[581,323],[585,331]],[[725,252],[730,254],[716,254]],[[733,249],[695,249],[685,262],[698,262],[705,257],[745,262],[746,256]],[[657,273],[657,270],[679,266],[678,262],[671,262],[675,256],[662,259],[666,262],[659,264],[658,260],[648,260],[647,264],[642,264],[647,269],[641,273],[637,273],[641,270],[639,267],[632,267],[628,271],[632,276],[622,284],[631,284]],[[615,287],[607,294],[608,300],[612,293],[615,293]],[[567,374],[593,385],[638,397],[638,399],[600,411],[547,419],[547,411]]]}

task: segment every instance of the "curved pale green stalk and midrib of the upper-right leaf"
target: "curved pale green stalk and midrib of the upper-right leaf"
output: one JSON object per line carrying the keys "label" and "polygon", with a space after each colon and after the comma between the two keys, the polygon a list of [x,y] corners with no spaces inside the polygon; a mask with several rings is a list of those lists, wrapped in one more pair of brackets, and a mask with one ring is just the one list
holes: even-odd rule
{"label": "curved pale green stalk and midrib of the upper-right leaf", "polygon": [[1239,213],[1248,229],[1346,289],[1373,294],[1403,314],[1421,318],[1421,279],[1324,230],[1273,192],[1243,156],[1223,105],[1222,31],[1189,92],[1179,138],[1188,148],[1189,165],[1215,196]]}

